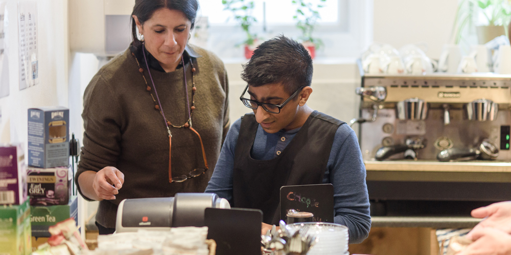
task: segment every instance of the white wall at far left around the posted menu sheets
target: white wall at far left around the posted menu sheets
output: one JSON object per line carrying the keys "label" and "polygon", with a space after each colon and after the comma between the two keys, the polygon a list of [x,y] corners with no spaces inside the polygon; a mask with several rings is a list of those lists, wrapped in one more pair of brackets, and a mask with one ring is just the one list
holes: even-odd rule
{"label": "white wall at far left around the posted menu sheets", "polygon": [[[67,107],[67,1],[38,0],[39,84],[19,90],[17,1],[7,1],[9,90],[0,98],[0,142],[27,142],[27,109]],[[26,145],[26,144],[25,144]],[[26,147],[26,146],[25,146]]]}

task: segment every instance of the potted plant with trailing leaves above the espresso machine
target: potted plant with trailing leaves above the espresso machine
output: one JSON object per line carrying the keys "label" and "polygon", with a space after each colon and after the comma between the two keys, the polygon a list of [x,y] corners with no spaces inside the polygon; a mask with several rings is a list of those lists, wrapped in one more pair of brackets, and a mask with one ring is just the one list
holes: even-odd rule
{"label": "potted plant with trailing leaves above the espresso machine", "polygon": [[[480,23],[481,17],[484,25],[475,26],[474,24]],[[456,11],[452,41],[459,44],[474,27],[479,44],[506,35],[508,33],[506,25],[510,17],[509,0],[462,0]]]}

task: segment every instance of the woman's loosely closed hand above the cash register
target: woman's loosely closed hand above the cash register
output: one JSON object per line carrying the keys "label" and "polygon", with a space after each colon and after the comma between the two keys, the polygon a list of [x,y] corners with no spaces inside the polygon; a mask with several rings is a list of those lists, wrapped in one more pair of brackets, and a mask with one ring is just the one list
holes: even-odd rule
{"label": "woman's loosely closed hand above the cash register", "polygon": [[124,174],[119,169],[107,166],[96,173],[92,188],[100,199],[115,199],[123,187]]}

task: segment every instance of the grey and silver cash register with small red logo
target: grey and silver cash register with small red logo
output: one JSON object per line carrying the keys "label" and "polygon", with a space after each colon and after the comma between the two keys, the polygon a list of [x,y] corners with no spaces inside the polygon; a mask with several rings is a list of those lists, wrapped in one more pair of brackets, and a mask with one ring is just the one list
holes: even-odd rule
{"label": "grey and silver cash register with small red logo", "polygon": [[174,197],[124,199],[117,210],[115,232],[204,226],[206,208],[230,209],[230,205],[225,198],[213,193],[177,193]]}

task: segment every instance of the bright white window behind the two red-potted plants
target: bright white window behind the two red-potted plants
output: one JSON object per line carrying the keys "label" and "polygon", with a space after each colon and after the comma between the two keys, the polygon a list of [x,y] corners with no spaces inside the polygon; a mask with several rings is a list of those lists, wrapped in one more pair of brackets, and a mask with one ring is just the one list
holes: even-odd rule
{"label": "bright white window behind the two red-potted plants", "polygon": [[[298,38],[293,15],[296,6],[291,0],[253,0],[252,15],[258,22],[250,29],[261,41],[278,34]],[[311,0],[317,1],[317,0]],[[228,18],[233,14],[224,11],[221,0],[199,0],[198,15],[207,17],[207,43],[199,44],[212,50],[222,59],[243,59],[244,48],[240,46],[245,35],[240,25]],[[316,59],[356,58],[372,39],[373,0],[327,0],[318,11],[318,21],[313,37],[320,38],[323,47],[316,50]]]}

